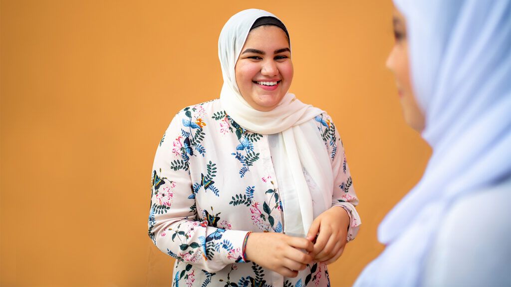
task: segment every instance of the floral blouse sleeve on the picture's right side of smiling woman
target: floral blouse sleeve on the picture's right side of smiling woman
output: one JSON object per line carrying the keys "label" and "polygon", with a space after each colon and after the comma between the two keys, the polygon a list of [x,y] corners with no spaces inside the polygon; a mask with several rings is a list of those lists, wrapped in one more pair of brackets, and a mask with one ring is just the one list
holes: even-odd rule
{"label": "floral blouse sleeve on the picture's right side of smiling woman", "polygon": [[357,209],[355,209],[355,206],[358,205],[358,198],[353,187],[350,168],[346,162],[342,140],[332,122],[332,118],[328,114],[318,115],[315,120],[332,160],[332,174],[334,176],[332,206],[341,206],[348,212],[350,227],[347,233],[347,241],[352,241],[355,239],[362,222]]}

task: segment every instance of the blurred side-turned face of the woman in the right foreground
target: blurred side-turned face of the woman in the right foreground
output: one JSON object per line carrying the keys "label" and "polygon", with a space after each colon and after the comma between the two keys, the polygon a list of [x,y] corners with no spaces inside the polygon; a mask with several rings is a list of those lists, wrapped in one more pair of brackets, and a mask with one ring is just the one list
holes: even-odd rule
{"label": "blurred side-turned face of the woman in the right foreground", "polygon": [[406,123],[412,129],[422,132],[424,130],[425,118],[424,113],[415,101],[410,81],[406,20],[396,8],[394,8],[392,22],[396,42],[394,42],[392,51],[388,55],[386,65],[396,77],[399,99]]}

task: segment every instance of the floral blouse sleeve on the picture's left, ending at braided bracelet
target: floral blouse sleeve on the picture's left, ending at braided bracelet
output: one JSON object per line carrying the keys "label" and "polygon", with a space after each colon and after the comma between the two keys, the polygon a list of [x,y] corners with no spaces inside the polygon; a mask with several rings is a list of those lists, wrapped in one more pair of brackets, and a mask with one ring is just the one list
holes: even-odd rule
{"label": "floral blouse sleeve on the picture's left, ending at braided bracelet", "polygon": [[162,252],[207,272],[244,262],[247,231],[208,226],[197,216],[187,149],[178,113],[159,142],[153,163],[149,237]]}

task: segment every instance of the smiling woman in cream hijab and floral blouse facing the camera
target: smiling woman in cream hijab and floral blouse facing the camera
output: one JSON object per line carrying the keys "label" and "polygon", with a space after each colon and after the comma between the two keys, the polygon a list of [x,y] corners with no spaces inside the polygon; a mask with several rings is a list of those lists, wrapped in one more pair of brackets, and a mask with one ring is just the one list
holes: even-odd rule
{"label": "smiling woman in cream hijab and floral blouse facing the camera", "polygon": [[149,236],[188,286],[326,286],[360,218],[330,116],[289,93],[284,24],[257,9],[219,38],[220,99],[172,120],[152,171]]}

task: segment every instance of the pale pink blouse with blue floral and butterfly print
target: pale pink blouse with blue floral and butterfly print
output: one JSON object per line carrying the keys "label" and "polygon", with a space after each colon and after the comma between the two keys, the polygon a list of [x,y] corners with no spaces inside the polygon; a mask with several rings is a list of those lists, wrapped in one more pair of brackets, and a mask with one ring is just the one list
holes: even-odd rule
{"label": "pale pink blouse with blue floral and butterfly print", "polygon": [[[332,206],[360,218],[339,134],[326,114],[311,119],[331,155]],[[159,142],[152,172],[149,236],[176,258],[173,286],[303,287],[330,285],[327,266],[314,263],[287,278],[247,262],[249,231],[284,232],[283,204],[268,135],[240,127],[214,100],[184,108]],[[271,244],[271,243],[268,243]]]}

